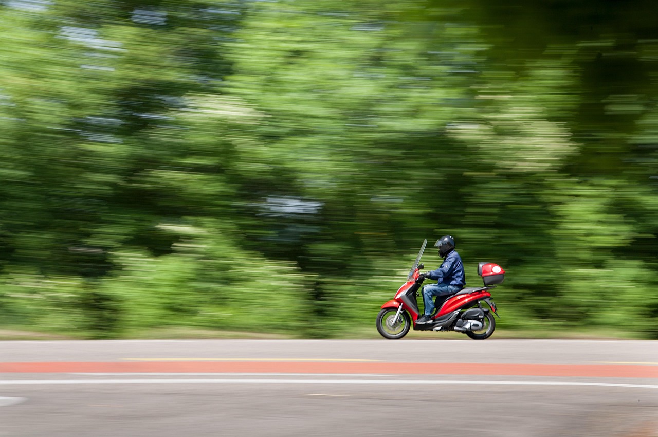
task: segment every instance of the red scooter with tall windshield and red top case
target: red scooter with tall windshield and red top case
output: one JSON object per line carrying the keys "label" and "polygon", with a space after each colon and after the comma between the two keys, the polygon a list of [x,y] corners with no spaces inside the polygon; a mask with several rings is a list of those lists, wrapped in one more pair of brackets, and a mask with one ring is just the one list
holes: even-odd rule
{"label": "red scooter with tall windshield and red top case", "polygon": [[[478,276],[482,277],[484,287],[463,288],[450,296],[436,297],[436,313],[430,322],[417,324],[420,316],[416,296],[420,296],[420,286],[424,276],[420,275],[423,269],[420,257],[425,250],[427,240],[422,243],[407,282],[397,290],[395,297],[382,305],[382,311],[377,315],[377,330],[384,338],[397,340],[403,338],[413,325],[414,330],[430,331],[457,331],[463,332],[474,340],[484,340],[493,334],[495,319],[498,315],[489,290],[505,279],[505,270],[495,263],[480,263]],[[482,301],[489,308],[482,307]]]}

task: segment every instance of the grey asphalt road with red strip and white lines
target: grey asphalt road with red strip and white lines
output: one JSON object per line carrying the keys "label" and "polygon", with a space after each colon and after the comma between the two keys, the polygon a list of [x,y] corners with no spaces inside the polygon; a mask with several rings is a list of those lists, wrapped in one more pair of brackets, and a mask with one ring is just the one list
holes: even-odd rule
{"label": "grey asphalt road with red strip and white lines", "polygon": [[2,342],[0,436],[658,437],[658,342]]}

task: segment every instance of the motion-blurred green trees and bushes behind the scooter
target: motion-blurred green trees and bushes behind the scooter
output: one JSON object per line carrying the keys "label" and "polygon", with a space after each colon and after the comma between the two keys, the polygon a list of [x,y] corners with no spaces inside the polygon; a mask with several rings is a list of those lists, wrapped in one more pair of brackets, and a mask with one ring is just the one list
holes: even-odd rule
{"label": "motion-blurred green trees and bushes behind the scooter", "polygon": [[653,5],[494,3],[0,1],[0,324],[374,330],[452,234],[499,326],[658,338]]}

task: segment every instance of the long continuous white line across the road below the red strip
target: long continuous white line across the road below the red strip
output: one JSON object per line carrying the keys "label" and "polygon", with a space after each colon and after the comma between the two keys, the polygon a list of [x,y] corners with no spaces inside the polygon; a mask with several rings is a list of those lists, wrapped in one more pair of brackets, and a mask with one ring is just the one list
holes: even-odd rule
{"label": "long continuous white line across the road below the red strip", "polygon": [[45,379],[45,380],[0,380],[0,385],[45,385],[45,384],[474,384],[507,386],[592,386],[658,388],[658,384],[619,384],[614,382],[570,382],[570,381],[457,381],[457,380],[403,380],[403,379]]}

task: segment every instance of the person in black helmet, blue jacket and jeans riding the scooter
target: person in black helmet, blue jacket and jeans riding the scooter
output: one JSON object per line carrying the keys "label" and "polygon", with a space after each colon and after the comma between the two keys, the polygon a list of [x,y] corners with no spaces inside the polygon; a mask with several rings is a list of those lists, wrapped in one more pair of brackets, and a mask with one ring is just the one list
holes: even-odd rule
{"label": "person in black helmet, blue jacket and jeans riding the scooter", "polygon": [[434,296],[448,296],[464,288],[466,279],[464,265],[459,253],[455,251],[455,239],[445,235],[436,240],[434,247],[439,248],[439,255],[443,258],[441,267],[430,272],[422,273],[424,278],[437,280],[436,284],[426,285],[422,288],[422,301],[425,304],[425,313],[416,323],[430,322],[430,315],[434,311]]}

